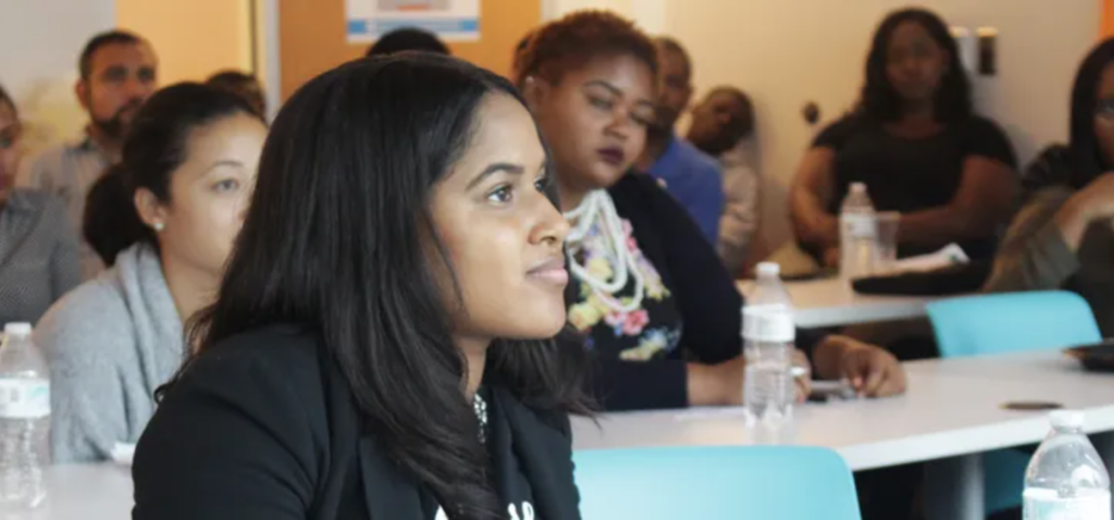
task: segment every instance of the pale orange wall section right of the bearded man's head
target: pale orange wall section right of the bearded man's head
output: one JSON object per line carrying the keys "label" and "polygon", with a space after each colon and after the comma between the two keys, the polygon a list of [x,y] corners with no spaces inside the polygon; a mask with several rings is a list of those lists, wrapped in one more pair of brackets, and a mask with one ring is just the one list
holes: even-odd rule
{"label": "pale orange wall section right of the bearded man's head", "polygon": [[251,70],[251,0],[116,0],[116,21],[155,47],[159,84]]}

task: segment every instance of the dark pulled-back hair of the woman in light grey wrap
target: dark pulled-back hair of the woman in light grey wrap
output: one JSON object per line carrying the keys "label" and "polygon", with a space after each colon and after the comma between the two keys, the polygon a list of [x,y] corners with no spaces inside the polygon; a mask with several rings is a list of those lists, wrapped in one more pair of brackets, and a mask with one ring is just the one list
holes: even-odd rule
{"label": "dark pulled-back hair of the woman in light grey wrap", "polygon": [[105,265],[111,266],[116,255],[133,244],[158,247],[155,232],[136,210],[136,190],[146,188],[169,203],[170,176],[186,160],[190,134],[237,114],[257,117],[241,98],[193,82],[166,87],[144,104],[124,141],[120,163],[109,167],[86,196],[82,235]]}

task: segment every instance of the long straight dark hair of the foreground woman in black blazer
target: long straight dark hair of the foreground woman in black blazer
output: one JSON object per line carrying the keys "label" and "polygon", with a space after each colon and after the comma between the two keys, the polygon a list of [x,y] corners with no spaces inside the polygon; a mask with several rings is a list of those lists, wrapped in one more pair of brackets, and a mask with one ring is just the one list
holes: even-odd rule
{"label": "long straight dark hair of the foreground woman in black blazer", "polygon": [[[499,76],[431,53],[353,61],[299,89],[271,127],[217,302],[190,336],[205,355],[268,324],[313,331],[390,458],[457,519],[506,513],[463,395],[467,362],[437,282],[451,263],[429,203],[490,96],[524,102]],[[485,384],[541,412],[587,412],[586,360],[579,344],[497,340]]]}

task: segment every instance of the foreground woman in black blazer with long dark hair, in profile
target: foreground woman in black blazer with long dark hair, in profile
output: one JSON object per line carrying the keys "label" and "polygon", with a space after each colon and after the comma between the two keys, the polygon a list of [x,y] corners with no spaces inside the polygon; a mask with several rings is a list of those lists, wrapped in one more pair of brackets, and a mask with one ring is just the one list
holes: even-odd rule
{"label": "foreground woman in black blazer with long dark hair, in profile", "polygon": [[133,517],[579,518],[547,165],[510,84],[452,58],[300,89],[139,441]]}

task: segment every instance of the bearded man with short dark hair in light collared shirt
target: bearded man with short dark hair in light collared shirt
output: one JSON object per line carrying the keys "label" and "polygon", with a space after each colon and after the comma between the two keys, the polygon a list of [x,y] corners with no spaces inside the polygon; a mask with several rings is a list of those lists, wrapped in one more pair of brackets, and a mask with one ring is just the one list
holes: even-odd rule
{"label": "bearded man with short dark hair in light collared shirt", "polygon": [[[81,51],[75,92],[89,114],[89,124],[77,139],[43,150],[20,179],[22,185],[60,197],[76,229],[81,229],[89,187],[119,160],[131,120],[155,92],[157,66],[147,41],[125,31],[97,35]],[[82,241],[81,278],[92,278],[102,269],[100,257]]]}

